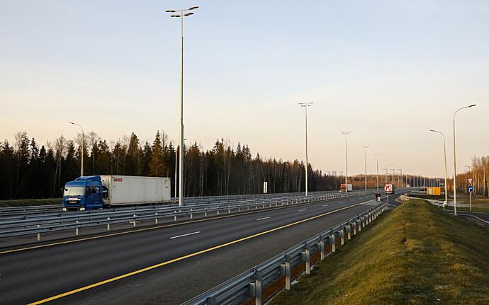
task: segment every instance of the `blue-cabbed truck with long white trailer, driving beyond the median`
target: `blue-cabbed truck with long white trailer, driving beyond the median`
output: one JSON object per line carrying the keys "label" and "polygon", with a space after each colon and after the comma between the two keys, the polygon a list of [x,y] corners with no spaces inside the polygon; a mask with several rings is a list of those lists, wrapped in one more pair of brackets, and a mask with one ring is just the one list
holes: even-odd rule
{"label": "blue-cabbed truck with long white trailer, driving beyond the median", "polygon": [[64,185],[64,211],[170,202],[170,178],[83,176]]}

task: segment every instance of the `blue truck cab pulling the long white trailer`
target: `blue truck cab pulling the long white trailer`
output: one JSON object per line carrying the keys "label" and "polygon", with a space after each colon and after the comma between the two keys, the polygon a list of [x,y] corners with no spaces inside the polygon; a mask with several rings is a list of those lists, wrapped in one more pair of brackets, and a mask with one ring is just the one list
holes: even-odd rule
{"label": "blue truck cab pulling the long white trailer", "polygon": [[103,186],[98,175],[80,177],[64,185],[64,211],[103,208]]}

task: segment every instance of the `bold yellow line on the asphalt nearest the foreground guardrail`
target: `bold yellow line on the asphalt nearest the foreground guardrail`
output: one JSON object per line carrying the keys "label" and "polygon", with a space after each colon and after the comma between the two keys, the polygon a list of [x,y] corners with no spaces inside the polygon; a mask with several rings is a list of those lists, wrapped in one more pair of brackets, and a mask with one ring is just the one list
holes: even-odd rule
{"label": "bold yellow line on the asphalt nearest the foreground guardrail", "polygon": [[325,216],[327,214],[332,214],[334,212],[338,212],[338,211],[341,211],[342,209],[349,209],[350,207],[355,207],[357,205],[361,205],[363,204],[364,202],[361,202],[361,203],[357,203],[355,205],[349,205],[348,207],[342,207],[341,209],[335,209],[334,211],[331,211],[331,212],[327,212],[325,214],[320,214],[320,215],[317,215],[315,217],[310,217],[308,219],[303,219],[303,220],[300,220],[300,221],[296,221],[296,222],[293,222],[292,224],[286,224],[285,226],[279,226],[278,228],[275,228],[275,229],[270,229],[268,231],[264,231],[262,233],[258,233],[258,234],[254,234],[252,236],[247,236],[247,237],[244,237],[244,238],[240,238],[240,239],[237,239],[236,241],[230,241],[229,243],[223,243],[222,245],[219,245],[219,246],[215,246],[213,248],[208,248],[206,250],[202,250],[202,251],[198,251],[196,253],[191,253],[189,255],[185,255],[185,256],[181,256],[180,258],[174,258],[173,260],[168,260],[164,263],[159,263],[157,265],[152,265],[150,267],[146,267],[144,269],[141,269],[141,270],[136,270],[136,271],[133,271],[133,272],[130,272],[130,273],[126,273],[125,275],[120,275],[118,277],[113,277],[111,279],[108,279],[108,280],[105,280],[105,281],[102,281],[102,282],[98,282],[98,283],[95,283],[95,284],[91,284],[89,286],[85,286],[85,287],[81,287],[79,289],[75,289],[75,290],[72,290],[70,292],[64,292],[64,294],[58,294],[54,297],[50,297],[50,298],[47,298],[47,299],[42,299],[40,301],[36,301],[34,303],[30,303],[28,305],[35,305],[35,304],[43,304],[47,301],[52,301],[52,300],[55,300],[55,299],[60,299],[62,297],[66,297],[66,296],[69,296],[70,294],[76,294],[77,292],[82,292],[84,290],[87,290],[87,289],[90,289],[90,288],[94,288],[94,287],[97,287],[97,286],[101,286],[103,284],[107,284],[107,283],[110,283],[110,282],[114,282],[116,280],[120,280],[120,279],[123,279],[125,277],[130,277],[131,275],[137,275],[138,273],[141,273],[141,272],[145,272],[147,270],[152,270],[154,268],[157,268],[157,267],[161,267],[161,266],[164,266],[164,265],[168,265],[170,263],[175,263],[175,262],[178,262],[179,260],[184,260],[185,258],[191,258],[192,256],[196,256],[196,255],[199,255],[199,254],[202,254],[202,253],[206,253],[206,252],[209,252],[209,251],[213,251],[215,249],[218,249],[218,248],[223,248],[225,246],[230,246],[232,245],[233,243],[239,243],[240,241],[246,241],[247,239],[250,239],[250,238],[254,238],[254,237],[257,237],[257,236],[261,236],[261,235],[264,235],[264,234],[267,234],[267,233],[270,233],[270,232],[273,232],[273,231],[277,231],[277,230],[280,230],[280,229],[283,229],[283,228],[286,228],[288,226],[293,226],[295,224],[300,224],[302,222],[305,222],[305,221],[309,221],[311,219],[316,219],[318,217],[322,217],[322,216]]}

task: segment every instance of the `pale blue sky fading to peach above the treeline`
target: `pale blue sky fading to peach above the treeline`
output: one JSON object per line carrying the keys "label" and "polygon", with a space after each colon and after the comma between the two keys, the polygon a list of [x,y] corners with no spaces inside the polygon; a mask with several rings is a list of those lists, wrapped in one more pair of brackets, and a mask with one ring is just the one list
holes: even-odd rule
{"label": "pale blue sky fading to peach above the treeline", "polygon": [[348,173],[442,177],[489,154],[489,1],[0,1],[0,139],[39,144],[79,127],[116,141],[179,137],[184,18],[186,143]]}

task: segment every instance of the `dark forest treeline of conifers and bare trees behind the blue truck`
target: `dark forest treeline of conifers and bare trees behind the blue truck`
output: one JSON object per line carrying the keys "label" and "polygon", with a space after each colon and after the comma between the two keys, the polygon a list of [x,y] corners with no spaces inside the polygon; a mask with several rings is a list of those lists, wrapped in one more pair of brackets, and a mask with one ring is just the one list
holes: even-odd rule
{"label": "dark forest treeline of conifers and bare trees behind the blue truck", "polygon": [[[60,197],[64,184],[80,175],[81,139],[81,134],[76,139],[61,135],[39,146],[26,132],[18,132],[13,144],[4,140],[0,144],[0,199]],[[157,132],[152,143],[142,143],[134,132],[115,143],[90,132],[84,137],[84,175],[169,177],[174,196],[178,153],[164,132]],[[303,192],[305,165],[298,160],[252,156],[248,145],[231,147],[224,139],[206,151],[197,143],[184,147],[186,197],[260,193],[264,181],[269,192]],[[339,190],[340,183],[338,176],[309,165],[310,191]]]}

